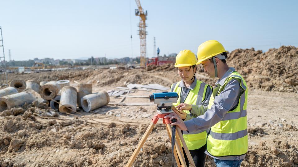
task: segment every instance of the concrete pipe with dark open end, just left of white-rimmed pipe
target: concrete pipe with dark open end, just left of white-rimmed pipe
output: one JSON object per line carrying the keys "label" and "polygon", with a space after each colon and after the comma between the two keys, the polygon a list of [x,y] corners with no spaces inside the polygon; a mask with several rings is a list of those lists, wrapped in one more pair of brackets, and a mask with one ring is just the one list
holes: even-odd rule
{"label": "concrete pipe with dark open end, just left of white-rimmed pipe", "polygon": [[39,94],[46,100],[53,99],[59,92],[60,87],[56,81],[50,81],[39,88]]}

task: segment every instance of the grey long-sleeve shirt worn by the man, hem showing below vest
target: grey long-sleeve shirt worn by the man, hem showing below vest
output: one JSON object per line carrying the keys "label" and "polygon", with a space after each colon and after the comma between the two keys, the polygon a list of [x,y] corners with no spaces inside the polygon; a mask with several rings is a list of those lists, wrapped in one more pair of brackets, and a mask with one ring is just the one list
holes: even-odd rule
{"label": "grey long-sleeve shirt worn by the man, hem showing below vest", "polygon": [[[227,77],[235,71],[234,68],[230,68],[223,76],[222,79],[219,79],[216,84],[223,85]],[[242,92],[240,83],[237,80],[231,80],[227,83],[224,90],[220,92],[218,96],[214,98],[214,104],[208,109],[203,115],[193,118],[191,120],[185,121],[185,125],[189,132],[207,130],[219,121],[221,121],[225,114],[232,108],[234,108]],[[207,155],[210,155],[208,152],[205,152]],[[244,159],[245,155],[242,156],[225,156],[225,157],[214,157],[220,160],[240,160]]]}

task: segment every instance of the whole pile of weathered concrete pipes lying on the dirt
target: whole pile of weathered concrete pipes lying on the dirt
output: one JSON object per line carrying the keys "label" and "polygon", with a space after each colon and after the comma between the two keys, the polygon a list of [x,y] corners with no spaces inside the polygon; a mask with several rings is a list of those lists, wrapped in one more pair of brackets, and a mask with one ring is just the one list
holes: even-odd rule
{"label": "whole pile of weathered concrete pipes lying on the dirt", "polygon": [[39,102],[49,100],[50,107],[62,113],[74,113],[77,106],[89,112],[107,105],[110,101],[107,92],[92,94],[92,84],[77,83],[76,87],[71,87],[69,80],[38,83],[35,80],[25,82],[15,79],[10,85],[11,87],[0,90],[0,112],[36,100]]}

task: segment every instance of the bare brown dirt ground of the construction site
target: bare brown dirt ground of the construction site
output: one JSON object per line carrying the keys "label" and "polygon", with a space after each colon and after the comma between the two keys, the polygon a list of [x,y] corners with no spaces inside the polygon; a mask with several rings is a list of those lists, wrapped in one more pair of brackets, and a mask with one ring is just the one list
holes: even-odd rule
{"label": "bare brown dirt ground of the construction site", "polygon": [[[284,48],[279,49],[276,49],[276,52],[282,52]],[[296,54],[296,59],[293,59],[295,62],[298,60],[296,48],[290,48],[286,55],[293,49]],[[255,51],[249,49],[233,51],[231,54],[235,57],[236,53],[237,56],[241,56],[246,52]],[[267,52],[258,53],[256,55],[263,59],[267,56]],[[233,59],[230,61],[231,65],[235,64]],[[239,69],[245,73],[244,77],[250,87],[247,105],[249,150],[242,166],[297,167],[298,93],[295,79],[298,71],[294,69],[293,73],[296,75],[287,74],[286,77],[283,74],[288,71],[283,70],[284,72],[280,72],[280,75],[274,78],[271,76],[272,73],[257,73],[258,70],[253,66],[255,65],[246,66],[251,69],[246,71],[247,73],[244,72],[245,69]],[[286,65],[284,67],[288,68]],[[235,68],[237,69],[237,66]],[[280,79],[282,82],[269,86],[270,81],[264,79],[260,86],[256,86],[259,82],[256,83],[257,78],[251,79],[252,76],[262,76],[262,80],[266,76],[272,80]],[[169,87],[170,84],[179,81],[177,71],[170,65],[151,67],[147,70],[95,69],[33,74],[11,73],[8,77],[35,79],[38,82],[69,79],[72,84],[74,81],[92,83],[93,92],[108,91],[129,83],[159,83]],[[209,79],[202,68],[196,77],[214,86],[212,83],[215,83],[215,80]],[[287,83],[287,78],[292,82]],[[149,96],[153,92],[160,91],[139,90],[130,95]],[[120,99],[111,97],[110,103],[118,102]],[[149,103],[149,99],[126,97],[124,102]],[[40,116],[40,113],[47,116],[47,112],[50,111],[52,110],[46,104],[34,103],[0,113],[0,166],[124,166],[151,118],[156,114],[156,106],[106,105],[90,113],[78,109],[79,114],[75,115],[56,113],[52,118]],[[215,166],[210,157],[207,157],[205,165]],[[161,120],[149,135],[133,166],[172,166],[170,140]]]}

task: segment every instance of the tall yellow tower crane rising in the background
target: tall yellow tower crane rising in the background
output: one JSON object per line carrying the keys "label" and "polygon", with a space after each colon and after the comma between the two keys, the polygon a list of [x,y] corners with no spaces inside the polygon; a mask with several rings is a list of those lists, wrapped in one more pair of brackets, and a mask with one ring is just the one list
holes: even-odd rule
{"label": "tall yellow tower crane rising in the background", "polygon": [[144,10],[141,6],[139,0],[136,0],[138,9],[135,9],[136,16],[140,16],[140,23],[139,23],[139,34],[140,35],[140,66],[145,67],[146,62],[146,19],[147,19],[147,11],[144,13]]}

